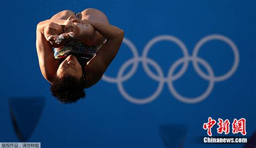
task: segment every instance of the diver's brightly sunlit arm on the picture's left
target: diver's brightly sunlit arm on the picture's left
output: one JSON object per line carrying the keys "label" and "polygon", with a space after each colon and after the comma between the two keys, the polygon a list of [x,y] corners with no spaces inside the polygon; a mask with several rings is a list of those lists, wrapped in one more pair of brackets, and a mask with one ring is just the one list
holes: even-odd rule
{"label": "diver's brightly sunlit arm on the picture's left", "polygon": [[52,46],[44,37],[43,26],[46,24],[44,23],[45,22],[37,25],[36,48],[41,73],[46,80],[51,82],[57,72],[59,61],[54,58]]}

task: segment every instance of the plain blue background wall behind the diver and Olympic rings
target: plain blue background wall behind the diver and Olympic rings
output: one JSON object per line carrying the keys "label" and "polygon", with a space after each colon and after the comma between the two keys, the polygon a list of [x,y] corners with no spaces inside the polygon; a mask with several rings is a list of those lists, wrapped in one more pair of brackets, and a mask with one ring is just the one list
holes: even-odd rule
{"label": "plain blue background wall behind the diver and Olympic rings", "polygon": [[[248,137],[256,129],[255,121],[255,1],[1,1],[1,100],[0,142],[18,142],[12,127],[8,99],[12,97],[45,97],[38,124],[28,142],[41,142],[42,147],[165,147],[160,125],[184,125],[188,128],[184,147],[242,147],[242,144],[196,144],[193,137],[207,136],[203,123],[208,117],[246,119]],[[239,52],[239,65],[234,73],[214,83],[203,101],[179,101],[164,82],[155,100],[136,104],[128,101],[116,83],[101,80],[86,90],[87,97],[76,104],[63,105],[53,98],[49,83],[44,80],[36,53],[36,25],[62,10],[83,11],[96,8],[103,11],[110,23],[125,31],[142,56],[145,45],[163,34],[180,39],[189,55],[198,41],[211,34],[221,34],[233,41]],[[154,60],[167,77],[169,68],[183,57],[180,48],[170,41],[152,46],[147,57]],[[235,59],[231,47],[220,40],[205,43],[198,57],[208,62],[215,76],[232,67]],[[133,58],[129,46],[122,47],[105,76],[117,77],[127,60]],[[150,64],[149,64],[150,65]],[[125,74],[131,69],[125,70]],[[174,73],[177,73],[181,65]],[[200,68],[207,74],[203,65]],[[150,65],[151,71],[157,70]],[[173,81],[179,94],[196,97],[209,84],[195,71],[192,62],[187,71]],[[133,97],[149,97],[157,89],[153,80],[138,65],[134,75],[123,82]],[[31,110],[24,106],[22,110]],[[24,117],[29,118],[29,117]],[[231,126],[232,128],[232,126]],[[217,133],[217,124],[212,129]],[[168,132],[170,137],[174,133]],[[185,133],[184,133],[185,134]],[[242,136],[240,133],[228,136]],[[174,140],[172,143],[178,143]]]}

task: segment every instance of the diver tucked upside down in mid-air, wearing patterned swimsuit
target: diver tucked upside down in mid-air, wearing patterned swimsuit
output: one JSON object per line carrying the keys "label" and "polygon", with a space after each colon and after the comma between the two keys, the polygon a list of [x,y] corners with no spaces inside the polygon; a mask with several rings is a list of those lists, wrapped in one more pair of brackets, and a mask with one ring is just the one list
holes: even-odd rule
{"label": "diver tucked upside down in mid-air, wearing patterned swimsuit", "polygon": [[52,95],[61,103],[73,103],[102,78],[124,31],[97,9],[65,10],[38,23],[36,36],[39,66]]}

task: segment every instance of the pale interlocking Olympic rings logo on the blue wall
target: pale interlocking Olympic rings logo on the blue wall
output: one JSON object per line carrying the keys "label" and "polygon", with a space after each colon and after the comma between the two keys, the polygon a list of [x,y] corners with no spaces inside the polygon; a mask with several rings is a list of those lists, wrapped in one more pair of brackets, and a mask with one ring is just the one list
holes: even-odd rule
{"label": "pale interlocking Olympic rings logo on the blue wall", "polygon": [[[200,47],[211,40],[223,41],[228,46],[230,46],[233,51],[234,62],[233,62],[232,67],[226,74],[223,74],[220,76],[215,76],[213,69],[208,64],[208,62],[206,62],[204,59],[198,57],[198,52],[200,50]],[[157,64],[157,62],[154,61],[153,59],[150,59],[147,57],[147,53],[150,51],[150,48],[154,44],[158,43],[159,41],[171,41],[171,42],[177,44],[179,46],[179,48],[181,49],[181,51],[183,52],[183,58],[178,59],[177,61],[174,62],[173,65],[171,65],[169,72],[167,74],[167,77],[164,77],[164,72],[161,69],[161,67]],[[231,77],[234,74],[234,72],[237,70],[238,65],[239,65],[239,52],[238,52],[237,46],[233,43],[233,41],[231,39],[229,39],[226,36],[220,35],[220,34],[211,34],[209,36],[206,36],[206,37],[200,39],[198,41],[198,43],[196,44],[196,46],[194,47],[192,55],[188,54],[187,47],[180,39],[178,39],[177,37],[174,37],[174,36],[169,36],[169,35],[161,35],[161,36],[157,36],[157,37],[151,39],[144,47],[142,57],[139,57],[138,50],[137,50],[136,46],[134,46],[134,44],[129,39],[124,38],[123,43],[126,44],[132,51],[133,58],[125,61],[125,63],[120,67],[116,78],[109,77],[104,74],[103,80],[106,82],[109,82],[109,83],[117,83],[118,90],[123,95],[123,97],[127,101],[135,103],[135,104],[146,104],[146,103],[149,103],[149,102],[155,100],[159,96],[161,91],[163,90],[164,83],[167,83],[170,93],[175,98],[177,98],[179,101],[184,102],[184,103],[198,103],[200,101],[203,101],[208,95],[211,94],[215,82],[227,80],[229,77]],[[203,94],[201,94],[200,96],[193,97],[193,98],[188,98],[188,97],[184,97],[184,96],[180,95],[173,86],[173,81],[178,80],[187,71],[188,64],[190,61],[192,62],[193,67],[196,70],[196,72],[198,73],[198,75],[200,77],[202,77],[204,80],[207,80],[209,82],[208,87],[205,90],[205,92]],[[143,69],[146,72],[146,74],[148,76],[150,76],[151,79],[158,81],[158,87],[154,91],[154,93],[151,96],[145,97],[145,98],[135,98],[135,97],[129,95],[125,91],[124,86],[123,86],[123,82],[130,79],[130,77],[137,71],[139,62],[142,62]],[[203,65],[206,68],[208,75],[205,74],[199,68],[198,63]],[[151,66],[153,66],[153,68],[156,69],[157,75],[154,74],[150,70],[148,64],[150,64]],[[175,69],[180,64],[183,64],[183,67],[181,67],[180,71],[176,75],[173,75]],[[131,71],[128,72],[126,75],[124,75],[125,69],[130,65],[132,65]]]}

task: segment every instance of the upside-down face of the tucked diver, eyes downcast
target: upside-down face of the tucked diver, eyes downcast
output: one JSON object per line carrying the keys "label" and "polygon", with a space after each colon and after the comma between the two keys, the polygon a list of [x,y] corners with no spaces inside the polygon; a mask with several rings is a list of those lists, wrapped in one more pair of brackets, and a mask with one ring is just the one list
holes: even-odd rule
{"label": "upside-down face of the tucked diver, eyes downcast", "polygon": [[82,77],[82,66],[79,64],[74,55],[69,55],[60,65],[57,70],[57,76],[62,77],[63,74],[72,75],[80,79]]}

